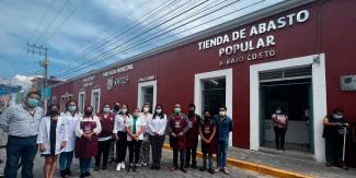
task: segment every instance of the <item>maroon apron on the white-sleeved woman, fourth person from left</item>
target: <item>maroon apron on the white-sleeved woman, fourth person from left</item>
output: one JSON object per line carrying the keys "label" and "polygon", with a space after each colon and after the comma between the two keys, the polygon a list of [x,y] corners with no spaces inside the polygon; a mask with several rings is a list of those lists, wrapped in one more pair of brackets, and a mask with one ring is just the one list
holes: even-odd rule
{"label": "maroon apron on the white-sleeved woman, fourth person from left", "polygon": [[[95,128],[96,123],[94,120],[80,121],[80,129],[82,129],[84,133],[93,132]],[[93,134],[91,140],[88,140],[84,137],[77,137],[74,152],[76,157],[78,158],[95,157],[97,153],[97,135]]]}

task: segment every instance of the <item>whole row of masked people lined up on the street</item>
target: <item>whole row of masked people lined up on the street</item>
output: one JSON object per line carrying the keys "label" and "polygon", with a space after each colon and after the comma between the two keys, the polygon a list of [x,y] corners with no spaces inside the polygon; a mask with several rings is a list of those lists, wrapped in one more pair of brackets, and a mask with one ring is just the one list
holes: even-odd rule
{"label": "whole row of masked people lined up on the street", "polygon": [[[60,112],[57,104],[48,106],[46,116],[38,107],[41,94],[31,92],[21,105],[8,108],[0,117],[0,129],[9,133],[4,177],[15,178],[19,162],[22,177],[33,177],[34,158],[37,149],[45,158],[44,177],[53,178],[59,161],[61,177],[71,175],[73,157],[79,158],[80,177],[91,176],[90,165],[95,157],[94,170],[107,169],[108,158],[116,151],[116,170],[136,171],[147,166],[152,155],[151,169],[161,169],[162,149],[169,135],[173,149],[173,165],[169,170],[187,167],[197,168],[198,138],[202,138],[203,166],[211,174],[227,169],[227,149],[232,119],[226,115],[227,108],[219,107],[219,115],[211,117],[204,110],[203,118],[195,114],[195,106],[188,105],[188,114],[182,112],[180,104],[174,105],[172,115],[166,116],[162,105],[153,112],[150,104],[129,110],[128,105],[116,102],[104,104],[100,112],[85,106],[83,115],[76,100],[66,104]],[[114,150],[116,145],[116,150]],[[128,164],[126,151],[128,147]],[[112,153],[111,153],[112,152]],[[217,169],[213,167],[213,154],[217,154]],[[180,157],[180,166],[179,166]]]}

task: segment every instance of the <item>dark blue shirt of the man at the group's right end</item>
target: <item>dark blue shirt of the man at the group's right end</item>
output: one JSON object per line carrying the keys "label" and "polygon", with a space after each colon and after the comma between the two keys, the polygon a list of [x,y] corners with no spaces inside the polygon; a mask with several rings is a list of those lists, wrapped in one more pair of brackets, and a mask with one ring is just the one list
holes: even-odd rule
{"label": "dark blue shirt of the man at the group's right end", "polygon": [[229,133],[232,131],[232,119],[228,116],[220,119],[220,116],[216,115],[214,121],[216,122],[217,140],[229,141]]}

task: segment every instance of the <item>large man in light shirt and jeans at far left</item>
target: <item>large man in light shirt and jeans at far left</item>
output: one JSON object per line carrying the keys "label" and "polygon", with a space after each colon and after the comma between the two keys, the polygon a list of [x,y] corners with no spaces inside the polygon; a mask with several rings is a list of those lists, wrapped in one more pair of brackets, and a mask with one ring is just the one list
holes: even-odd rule
{"label": "large man in light shirt and jeans at far left", "polygon": [[22,177],[33,177],[33,161],[37,153],[37,134],[43,109],[41,94],[30,92],[20,105],[9,107],[0,116],[0,129],[8,132],[4,177],[16,177],[21,158]]}

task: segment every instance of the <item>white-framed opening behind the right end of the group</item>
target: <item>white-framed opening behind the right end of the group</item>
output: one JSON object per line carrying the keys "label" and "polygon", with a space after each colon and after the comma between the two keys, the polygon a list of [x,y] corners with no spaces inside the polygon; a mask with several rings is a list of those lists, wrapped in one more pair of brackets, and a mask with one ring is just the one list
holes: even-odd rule
{"label": "white-framed opening behind the right end of the group", "polygon": [[[225,69],[225,70],[217,70],[211,72],[205,73],[197,73],[195,74],[194,79],[194,105],[196,107],[196,112],[202,115],[203,108],[206,107],[206,85],[209,83],[221,85],[219,80],[225,80],[225,84],[219,87],[225,90],[225,106],[228,108],[227,115],[230,116],[232,119],[232,69]],[[214,103],[210,103],[210,105]],[[229,145],[232,146],[232,132],[230,132],[229,137]]]}

